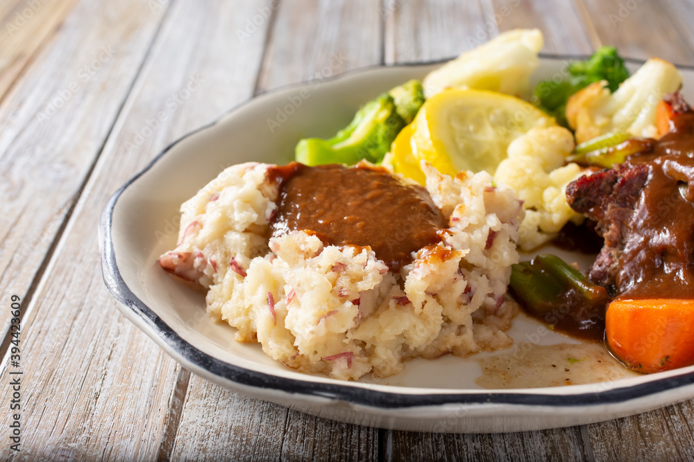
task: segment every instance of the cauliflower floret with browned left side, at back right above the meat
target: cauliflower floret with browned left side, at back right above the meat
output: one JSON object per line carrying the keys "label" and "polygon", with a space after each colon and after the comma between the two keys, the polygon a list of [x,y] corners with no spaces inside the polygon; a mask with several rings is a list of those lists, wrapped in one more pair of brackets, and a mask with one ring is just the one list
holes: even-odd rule
{"label": "cauliflower floret with browned left side, at back right above the meat", "polygon": [[655,137],[658,102],[681,86],[682,75],[677,68],[654,57],[614,93],[604,80],[578,91],[566,104],[566,118],[578,143],[609,132]]}

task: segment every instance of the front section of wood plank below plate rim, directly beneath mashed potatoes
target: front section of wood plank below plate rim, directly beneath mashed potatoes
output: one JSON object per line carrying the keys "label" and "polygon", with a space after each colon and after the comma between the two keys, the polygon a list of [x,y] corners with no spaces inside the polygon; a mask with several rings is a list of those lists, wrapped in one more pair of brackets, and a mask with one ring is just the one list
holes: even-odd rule
{"label": "front section of wood plank below plate rim, directly beneath mashed potatoes", "polygon": [[174,460],[374,461],[378,430],[307,416],[192,376]]}

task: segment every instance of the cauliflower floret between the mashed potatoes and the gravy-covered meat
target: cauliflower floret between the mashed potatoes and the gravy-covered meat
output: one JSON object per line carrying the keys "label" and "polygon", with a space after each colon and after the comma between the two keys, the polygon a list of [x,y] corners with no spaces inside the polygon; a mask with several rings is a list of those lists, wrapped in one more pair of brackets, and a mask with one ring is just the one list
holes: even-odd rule
{"label": "cauliflower floret between the mashed potatoes and the gravy-covered meat", "polygon": [[518,245],[525,251],[554,238],[569,220],[582,220],[566,203],[566,185],[583,173],[575,163],[563,166],[573,148],[566,128],[535,127],[511,142],[507,159],[496,169],[494,179],[523,200],[526,213]]}

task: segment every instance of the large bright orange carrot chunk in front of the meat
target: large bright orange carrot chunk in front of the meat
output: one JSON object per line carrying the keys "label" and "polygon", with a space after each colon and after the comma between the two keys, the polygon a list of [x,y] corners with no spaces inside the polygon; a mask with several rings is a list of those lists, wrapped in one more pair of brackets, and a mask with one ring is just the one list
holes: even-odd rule
{"label": "large bright orange carrot chunk in front of the meat", "polygon": [[607,307],[607,343],[635,371],[694,364],[694,300],[616,299]]}

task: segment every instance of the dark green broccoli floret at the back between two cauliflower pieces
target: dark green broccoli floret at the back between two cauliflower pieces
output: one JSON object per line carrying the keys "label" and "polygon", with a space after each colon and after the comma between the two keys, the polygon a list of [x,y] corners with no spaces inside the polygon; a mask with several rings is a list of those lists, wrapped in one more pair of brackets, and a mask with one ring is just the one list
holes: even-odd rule
{"label": "dark green broccoli floret at the back between two cauliflower pieces", "polygon": [[588,60],[572,62],[567,70],[567,79],[559,82],[543,80],[534,91],[534,103],[564,127],[569,126],[566,102],[571,95],[600,80],[607,80],[607,88],[616,91],[620,83],[629,77],[624,61],[613,46],[601,46]]}

